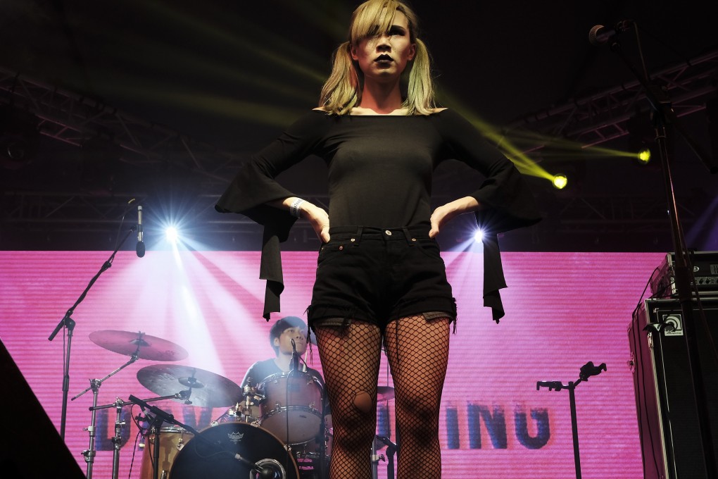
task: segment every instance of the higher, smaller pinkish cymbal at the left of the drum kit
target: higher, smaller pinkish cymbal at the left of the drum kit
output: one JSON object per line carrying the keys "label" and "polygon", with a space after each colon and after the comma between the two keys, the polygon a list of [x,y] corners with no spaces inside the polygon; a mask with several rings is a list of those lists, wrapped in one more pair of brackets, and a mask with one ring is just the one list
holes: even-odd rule
{"label": "higher, smaller pinkish cymbal at the left of the drum kit", "polygon": [[146,335],[144,332],[103,330],[90,332],[90,340],[102,348],[115,353],[152,361],[180,361],[187,358],[182,346],[168,340]]}

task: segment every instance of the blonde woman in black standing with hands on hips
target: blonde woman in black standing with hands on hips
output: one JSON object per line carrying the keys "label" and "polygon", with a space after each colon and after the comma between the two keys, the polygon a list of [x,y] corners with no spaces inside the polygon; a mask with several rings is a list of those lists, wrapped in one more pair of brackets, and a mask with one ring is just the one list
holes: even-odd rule
{"label": "blonde woman in black standing with hands on hips", "polygon": [[[495,234],[539,220],[513,164],[454,111],[436,108],[429,52],[401,1],[358,6],[320,106],[253,155],[218,201],[264,225],[265,317],[279,310],[279,243],[298,218],[322,247],[309,327],[317,337],[334,426],[331,479],[371,477],[381,349],[396,400],[399,479],[441,477],[439,406],[456,304],[435,239],[456,215],[488,230],[485,304],[503,315]],[[310,154],[325,160],[329,210],[274,178]],[[457,159],[486,180],[432,211],[432,172]]]}

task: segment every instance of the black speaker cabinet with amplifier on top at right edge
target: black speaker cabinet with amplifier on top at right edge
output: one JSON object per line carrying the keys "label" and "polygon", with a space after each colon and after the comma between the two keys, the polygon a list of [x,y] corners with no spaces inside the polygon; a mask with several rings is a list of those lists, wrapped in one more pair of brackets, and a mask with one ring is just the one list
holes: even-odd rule
{"label": "black speaker cabinet with amplifier on top at right edge", "polygon": [[[718,343],[718,297],[701,298],[701,304],[708,330]],[[691,311],[714,457],[718,457],[718,362],[695,300]],[[628,340],[644,478],[706,479],[680,302],[646,299],[628,327]]]}

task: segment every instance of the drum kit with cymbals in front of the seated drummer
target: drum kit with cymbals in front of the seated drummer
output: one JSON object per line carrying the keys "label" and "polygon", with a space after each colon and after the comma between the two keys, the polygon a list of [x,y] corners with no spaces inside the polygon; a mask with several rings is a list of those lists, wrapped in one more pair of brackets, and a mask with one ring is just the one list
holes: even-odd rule
{"label": "drum kit with cymbals in front of the seated drummer", "polygon": [[[97,405],[98,391],[106,379],[139,359],[180,361],[187,351],[144,332],[96,331],[90,340],[102,348],[129,355],[128,362],[102,379],[90,379],[93,391],[88,450],[83,451],[87,478],[92,479],[95,457],[95,414],[116,409],[113,442],[113,479],[118,478],[122,429],[121,411],[139,405],[145,414],[144,455],[140,479],[208,479],[220,477],[322,479],[328,477],[332,449],[331,414],[325,411],[325,391],[317,378],[289,371],[265,378],[257,386],[241,388],[228,378],[190,366],[153,364],[137,371],[142,386],[159,396]],[[195,430],[168,411],[149,403],[172,399],[182,404],[223,408],[227,411],[210,426]],[[378,400],[393,399],[393,388],[379,388]],[[376,441],[375,441],[376,444]],[[372,460],[378,462],[376,447]],[[374,473],[376,478],[376,473]]]}

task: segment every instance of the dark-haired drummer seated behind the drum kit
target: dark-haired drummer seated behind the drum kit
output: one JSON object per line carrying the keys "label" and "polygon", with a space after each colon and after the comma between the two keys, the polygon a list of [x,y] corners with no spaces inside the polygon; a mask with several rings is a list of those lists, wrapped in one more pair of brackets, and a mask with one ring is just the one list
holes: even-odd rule
{"label": "dark-haired drummer seated behind the drum kit", "polygon": [[[326,394],[324,378],[322,378],[319,371],[309,368],[302,357],[307,352],[307,323],[301,317],[286,316],[276,320],[271,330],[269,330],[269,344],[274,349],[274,358],[257,361],[250,366],[244,375],[241,387],[243,391],[246,391],[247,388],[256,390],[269,376],[288,373],[292,369],[292,353],[294,352],[292,340],[294,340],[294,348],[296,348],[297,355],[299,355],[299,371],[309,373],[310,376],[314,376],[320,382],[325,401],[325,412],[328,413],[329,399]],[[259,419],[261,412],[258,406],[250,409],[251,413],[247,414],[248,417],[245,419],[248,422]],[[330,422],[330,417],[327,417],[327,422]],[[330,424],[327,424],[327,427],[330,427]]]}

